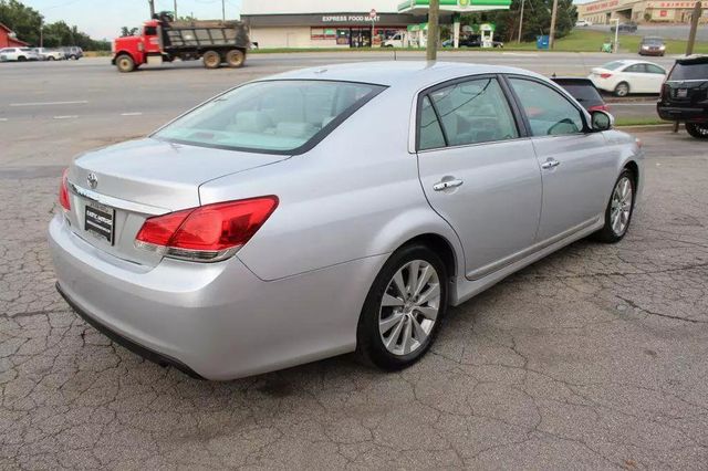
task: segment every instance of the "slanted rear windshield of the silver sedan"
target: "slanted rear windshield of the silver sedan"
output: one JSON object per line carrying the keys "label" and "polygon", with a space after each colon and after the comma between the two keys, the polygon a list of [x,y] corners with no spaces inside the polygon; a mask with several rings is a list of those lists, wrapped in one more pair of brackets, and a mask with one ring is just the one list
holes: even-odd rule
{"label": "slanted rear windshield of the silver sedan", "polygon": [[383,90],[351,82],[254,82],[217,96],[153,136],[207,147],[298,154]]}

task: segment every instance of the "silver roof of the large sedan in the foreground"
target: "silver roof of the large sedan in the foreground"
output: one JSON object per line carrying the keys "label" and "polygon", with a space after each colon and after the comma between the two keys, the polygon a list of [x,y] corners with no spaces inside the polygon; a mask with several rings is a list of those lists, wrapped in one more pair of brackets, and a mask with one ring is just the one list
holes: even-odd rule
{"label": "silver roof of the large sedan in the foreground", "polygon": [[517,67],[427,61],[381,61],[323,65],[285,72],[270,76],[269,80],[331,80],[419,88],[467,75],[493,73],[521,74],[548,81],[542,75]]}

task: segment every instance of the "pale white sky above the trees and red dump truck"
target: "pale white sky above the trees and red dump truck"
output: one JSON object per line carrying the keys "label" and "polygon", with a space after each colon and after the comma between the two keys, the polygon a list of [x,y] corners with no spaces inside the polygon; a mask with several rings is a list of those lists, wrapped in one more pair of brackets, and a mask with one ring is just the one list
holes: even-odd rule
{"label": "pale white sky above the trees and red dump truck", "polygon": [[[149,19],[147,0],[20,0],[39,10],[44,21],[63,20],[93,39],[119,35],[121,27],[138,27]],[[241,0],[223,0],[227,19],[239,17]],[[173,0],[155,0],[155,10],[174,9]],[[177,0],[177,13],[194,13],[200,20],[221,19],[221,0]]]}

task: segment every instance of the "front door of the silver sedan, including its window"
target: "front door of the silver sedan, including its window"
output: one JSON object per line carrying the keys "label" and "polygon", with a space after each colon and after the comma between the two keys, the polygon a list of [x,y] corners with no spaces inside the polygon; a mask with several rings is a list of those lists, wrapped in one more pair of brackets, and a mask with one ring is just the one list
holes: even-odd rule
{"label": "front door of the silver sedan, including its window", "polygon": [[586,130],[585,113],[554,85],[525,76],[508,80],[541,167],[543,209],[537,241],[592,226],[610,197],[616,156],[602,133]]}

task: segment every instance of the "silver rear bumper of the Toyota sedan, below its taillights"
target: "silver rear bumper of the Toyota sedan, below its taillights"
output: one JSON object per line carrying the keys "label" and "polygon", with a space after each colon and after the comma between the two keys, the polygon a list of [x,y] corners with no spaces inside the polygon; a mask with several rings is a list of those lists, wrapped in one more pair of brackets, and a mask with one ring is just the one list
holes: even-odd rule
{"label": "silver rear bumper of the Toyota sedan, below its taillights", "polygon": [[82,317],[147,359],[207,379],[352,352],[364,299],[385,260],[264,282],[238,258],[140,268],[79,238],[62,214],[50,223],[49,242],[60,292]]}

